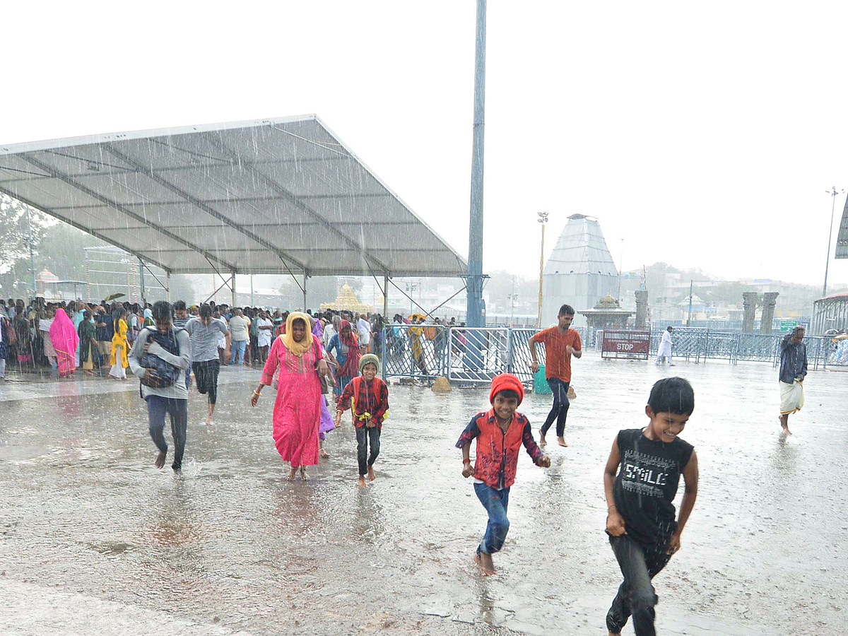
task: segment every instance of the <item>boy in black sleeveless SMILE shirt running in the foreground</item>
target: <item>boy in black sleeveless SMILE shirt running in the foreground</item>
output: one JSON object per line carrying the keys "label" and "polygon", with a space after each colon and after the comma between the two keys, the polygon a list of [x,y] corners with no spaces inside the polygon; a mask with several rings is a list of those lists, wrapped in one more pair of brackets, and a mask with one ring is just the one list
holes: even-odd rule
{"label": "boy in black sleeveless SMILE shirt running in the foreground", "polygon": [[[667,377],[650,390],[644,407],[648,427],[619,431],[612,443],[604,471],[606,533],[624,581],[606,615],[610,636],[618,636],[631,615],[636,636],[656,634],[651,579],[680,549],[680,533],[698,494],[695,449],[678,438],[693,410],[692,385]],[[681,474],[685,490],[675,520],[672,502]]]}

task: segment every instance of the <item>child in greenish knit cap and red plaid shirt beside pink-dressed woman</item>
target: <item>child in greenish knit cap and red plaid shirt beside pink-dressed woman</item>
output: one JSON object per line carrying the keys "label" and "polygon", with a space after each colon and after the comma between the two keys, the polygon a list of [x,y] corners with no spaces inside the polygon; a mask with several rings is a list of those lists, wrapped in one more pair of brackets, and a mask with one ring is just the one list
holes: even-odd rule
{"label": "child in greenish knit cap and red plaid shirt beside pink-dressed woman", "polygon": [[[336,426],[342,423],[342,413],[353,404],[354,424],[356,426],[356,459],[360,463],[360,488],[365,488],[365,474],[368,481],[377,479],[374,474],[374,462],[380,455],[380,432],[382,423],[388,417],[388,387],[377,373],[380,371],[380,359],[374,354],[365,354],[360,358],[361,376],[354,377],[344,387],[336,402]],[[368,454],[371,444],[371,455]]]}

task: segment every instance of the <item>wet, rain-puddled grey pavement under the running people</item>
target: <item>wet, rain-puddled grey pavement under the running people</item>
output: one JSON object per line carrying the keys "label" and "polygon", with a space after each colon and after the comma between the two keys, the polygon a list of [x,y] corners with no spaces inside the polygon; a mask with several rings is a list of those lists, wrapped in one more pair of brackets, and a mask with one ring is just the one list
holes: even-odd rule
{"label": "wet, rain-puddled grey pavement under the running people", "polygon": [[[698,450],[700,492],[655,579],[658,633],[838,633],[848,374],[811,373],[784,438],[771,365],[596,355],[573,365],[571,447],[549,444],[547,470],[522,454],[495,577],[471,562],[486,515],[453,447],[488,391],[393,385],[378,479],[360,490],[349,416],[328,434],[332,458],[308,483],[287,481],[271,389],[248,402],[258,371],[222,370],[212,427],[192,388],[182,477],[153,468],[137,382],[10,374],[0,633],[605,634],[620,581],[603,533],[605,459],[619,429],[646,423],[652,382],[672,374],[695,386],[682,437]],[[533,394],[522,404],[537,434],[549,406]]]}

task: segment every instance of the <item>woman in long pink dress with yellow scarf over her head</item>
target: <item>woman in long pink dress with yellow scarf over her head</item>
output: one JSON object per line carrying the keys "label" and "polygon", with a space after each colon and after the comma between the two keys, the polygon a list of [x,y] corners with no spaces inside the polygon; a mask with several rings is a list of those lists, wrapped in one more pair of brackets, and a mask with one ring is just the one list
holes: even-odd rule
{"label": "woman in long pink dress with yellow scarf over her head", "polygon": [[318,428],[321,422],[321,381],[318,374],[332,378],[321,354],[321,344],[310,332],[310,321],[310,316],[299,311],[288,315],[286,332],[274,339],[259,386],[250,399],[250,404],[255,406],[262,387],[271,386],[279,366],[274,402],[274,444],[282,460],[291,463],[288,478],[294,479],[299,468],[304,482],[306,466],[318,464]]}

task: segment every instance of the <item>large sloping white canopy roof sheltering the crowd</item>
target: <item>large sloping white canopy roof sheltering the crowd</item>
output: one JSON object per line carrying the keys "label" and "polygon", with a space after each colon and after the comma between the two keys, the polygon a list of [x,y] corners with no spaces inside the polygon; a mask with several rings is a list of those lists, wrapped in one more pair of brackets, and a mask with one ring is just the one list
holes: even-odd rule
{"label": "large sloping white canopy roof sheltering the crowd", "polygon": [[0,146],[0,192],[169,275],[466,271],[315,115]]}

